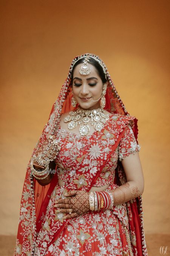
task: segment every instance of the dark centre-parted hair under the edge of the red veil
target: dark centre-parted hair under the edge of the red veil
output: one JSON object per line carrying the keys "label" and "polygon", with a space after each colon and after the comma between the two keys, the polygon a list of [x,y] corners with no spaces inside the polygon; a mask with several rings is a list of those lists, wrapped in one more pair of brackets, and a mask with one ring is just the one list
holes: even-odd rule
{"label": "dark centre-parted hair under the edge of the red veil", "polygon": [[[73,69],[72,69],[72,71],[71,71],[71,85],[73,84],[73,73],[74,73],[74,69],[76,68],[76,66],[77,66],[78,64],[83,63],[83,60],[85,60],[85,57],[82,58],[82,59],[80,59],[80,60],[78,60],[78,61],[74,64],[74,66],[73,66]],[[106,80],[106,78],[105,78],[105,73],[104,73],[104,70],[103,70],[102,66],[100,66],[100,64],[99,64],[96,60],[94,60],[93,58],[90,58],[90,61],[89,61],[88,63],[90,63],[91,65],[93,65],[94,68],[96,68],[96,71],[97,71],[97,73],[99,74],[99,77],[101,78],[102,82],[103,82],[103,83],[106,83],[107,80]]]}

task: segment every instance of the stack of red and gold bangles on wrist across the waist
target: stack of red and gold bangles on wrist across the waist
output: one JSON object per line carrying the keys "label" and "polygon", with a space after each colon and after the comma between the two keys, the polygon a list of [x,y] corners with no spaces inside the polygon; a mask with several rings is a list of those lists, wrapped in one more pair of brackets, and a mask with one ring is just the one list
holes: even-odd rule
{"label": "stack of red and gold bangles on wrist across the waist", "polygon": [[113,195],[108,190],[89,194],[90,210],[113,209]]}

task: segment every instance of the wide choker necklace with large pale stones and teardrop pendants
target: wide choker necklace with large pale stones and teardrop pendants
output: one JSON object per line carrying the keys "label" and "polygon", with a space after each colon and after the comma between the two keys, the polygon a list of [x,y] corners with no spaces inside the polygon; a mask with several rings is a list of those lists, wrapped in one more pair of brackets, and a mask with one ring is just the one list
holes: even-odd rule
{"label": "wide choker necklace with large pale stones and teardrop pendants", "polygon": [[86,136],[90,132],[89,122],[91,125],[94,125],[96,131],[100,132],[108,119],[109,115],[105,113],[103,108],[84,110],[78,107],[64,118],[64,123],[69,123],[69,130],[73,130],[78,124],[83,123],[79,128],[79,132],[80,135]]}

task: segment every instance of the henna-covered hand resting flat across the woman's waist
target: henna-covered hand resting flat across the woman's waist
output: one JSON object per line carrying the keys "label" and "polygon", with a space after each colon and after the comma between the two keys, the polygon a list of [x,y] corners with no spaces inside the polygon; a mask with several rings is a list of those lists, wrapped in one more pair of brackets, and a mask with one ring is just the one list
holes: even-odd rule
{"label": "henna-covered hand resting flat across the woman's waist", "polygon": [[55,201],[54,207],[60,208],[56,212],[67,213],[63,219],[76,217],[90,210],[89,193],[83,190],[70,190],[64,196],[69,198]]}

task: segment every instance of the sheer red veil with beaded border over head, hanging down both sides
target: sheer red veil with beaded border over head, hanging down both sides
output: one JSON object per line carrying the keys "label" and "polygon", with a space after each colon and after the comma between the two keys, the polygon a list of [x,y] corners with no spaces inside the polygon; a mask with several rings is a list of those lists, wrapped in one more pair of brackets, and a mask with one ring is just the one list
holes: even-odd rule
{"label": "sheer red veil with beaded border over head, hanging down both sides", "polygon": [[[106,105],[104,109],[112,114],[115,113],[124,116],[125,123],[130,124],[134,133],[134,137],[138,142],[138,119],[136,119],[133,116],[130,116],[127,110],[125,109],[125,106],[115,89],[114,83],[103,61],[94,54],[86,53],[80,56],[76,56],[73,59],[68,72],[68,77],[66,78],[65,83],[63,84],[60,90],[56,102],[53,104],[51,113],[49,115],[48,123],[45,124],[45,127],[42,131],[42,135],[32,153],[32,157],[34,155],[37,155],[38,152],[41,151],[41,149],[44,147],[44,145],[46,145],[46,141],[48,140],[49,136],[54,135],[54,132],[56,131],[57,127],[57,122],[59,121],[61,114],[75,109],[71,105],[71,71],[76,61],[86,56],[94,58],[96,61],[99,62],[99,64],[104,69],[105,77],[107,79],[107,91],[105,95]],[[58,182],[57,175],[55,174],[50,184],[44,187],[41,186],[32,176],[30,162],[31,160],[28,163],[26,177],[23,185],[20,206],[19,228],[14,253],[15,255],[34,255],[34,247],[36,244],[37,234],[41,228],[42,216],[45,215],[46,213],[46,207],[48,206],[51,193],[53,192]],[[96,181],[96,178],[99,177],[99,175],[99,171],[98,173],[94,174],[94,179],[91,182],[91,187],[93,186],[94,181]],[[119,160],[115,170],[115,176],[117,185],[122,185],[125,182],[127,182],[124,168]],[[137,255],[147,255],[143,226],[142,196],[140,195],[138,198],[131,199],[126,203],[126,205],[128,212],[128,225],[131,232],[133,232],[133,234],[135,234],[136,236],[136,250],[138,251]],[[65,228],[65,225],[68,222],[69,219],[63,222],[62,226],[59,228],[56,234],[54,234],[53,240],[59,237],[60,232]],[[133,240],[131,239],[130,242],[131,246],[133,247]]]}

